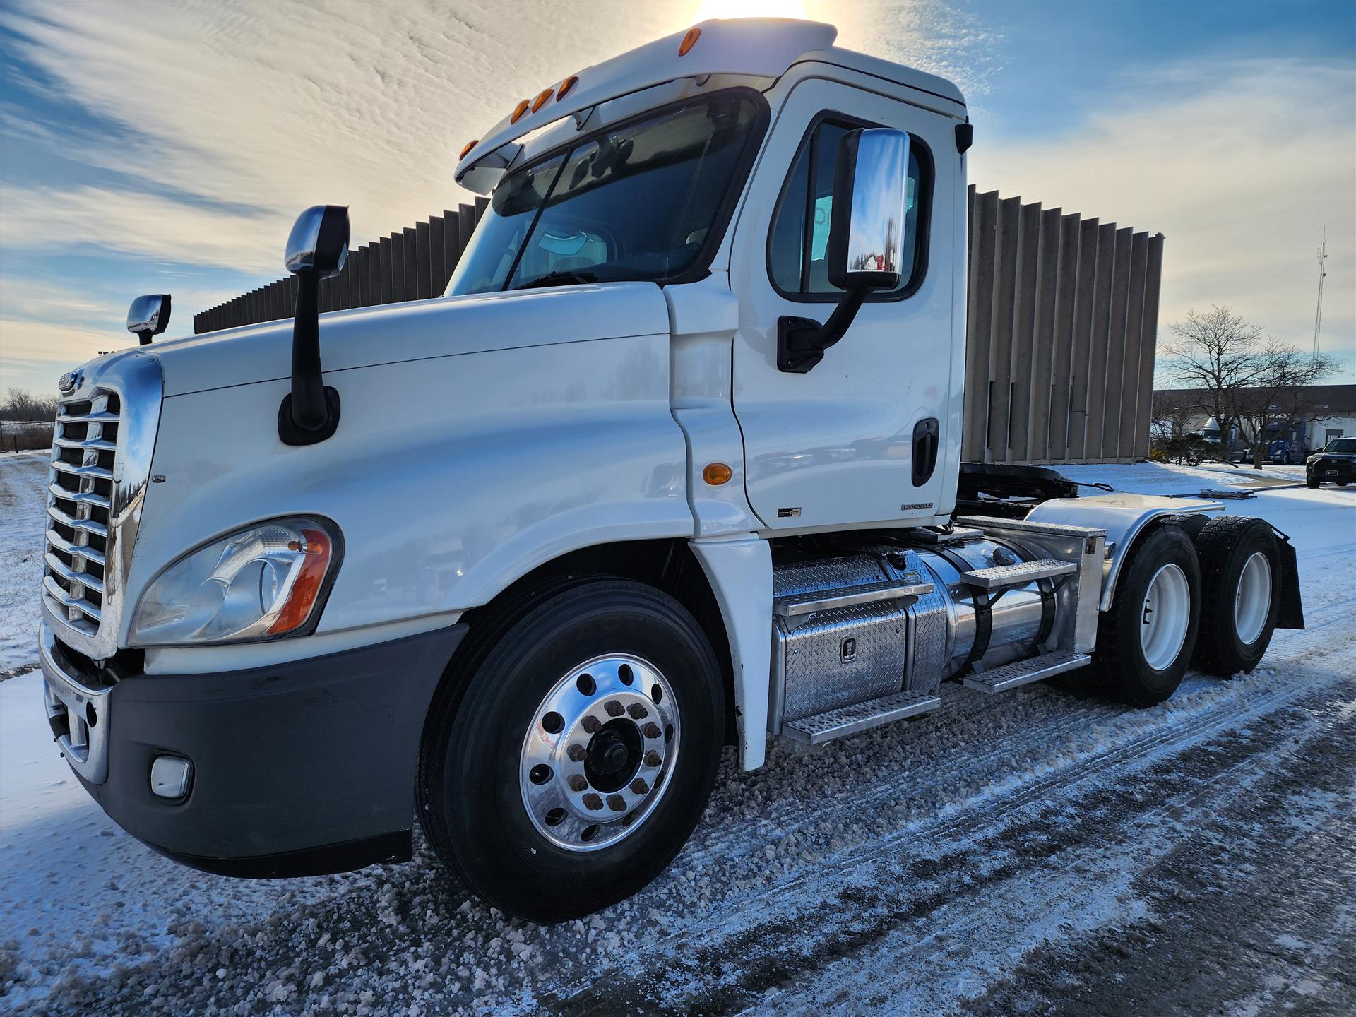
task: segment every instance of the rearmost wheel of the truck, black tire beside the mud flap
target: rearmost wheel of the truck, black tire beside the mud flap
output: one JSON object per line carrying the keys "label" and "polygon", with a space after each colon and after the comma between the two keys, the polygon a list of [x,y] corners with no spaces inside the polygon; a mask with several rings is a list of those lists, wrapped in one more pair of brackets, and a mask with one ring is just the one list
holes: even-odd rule
{"label": "rearmost wheel of the truck, black tire beside the mud flap", "polygon": [[1262,659],[1276,631],[1280,548],[1261,519],[1224,515],[1196,537],[1205,602],[1196,666],[1227,678],[1248,674]]}

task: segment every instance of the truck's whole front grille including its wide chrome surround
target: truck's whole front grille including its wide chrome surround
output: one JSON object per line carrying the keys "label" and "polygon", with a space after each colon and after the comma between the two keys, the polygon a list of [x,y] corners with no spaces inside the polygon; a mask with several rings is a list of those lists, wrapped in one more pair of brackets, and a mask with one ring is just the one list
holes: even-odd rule
{"label": "truck's whole front grille including its wide chrome surround", "polygon": [[140,351],[75,374],[52,438],[42,606],[53,635],[103,660],[118,650],[163,384],[159,358]]}

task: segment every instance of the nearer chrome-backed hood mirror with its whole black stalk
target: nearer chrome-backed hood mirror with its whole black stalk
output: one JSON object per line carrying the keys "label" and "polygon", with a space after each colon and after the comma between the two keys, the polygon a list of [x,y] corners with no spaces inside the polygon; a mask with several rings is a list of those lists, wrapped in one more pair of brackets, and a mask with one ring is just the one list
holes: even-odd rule
{"label": "nearer chrome-backed hood mirror with its whole black stalk", "polygon": [[324,384],[320,367],[320,281],[338,275],[348,260],[348,209],[312,205],[287,237],[287,271],[297,277],[292,321],[292,392],[278,407],[278,437],[287,445],[323,442],[339,426],[339,392]]}

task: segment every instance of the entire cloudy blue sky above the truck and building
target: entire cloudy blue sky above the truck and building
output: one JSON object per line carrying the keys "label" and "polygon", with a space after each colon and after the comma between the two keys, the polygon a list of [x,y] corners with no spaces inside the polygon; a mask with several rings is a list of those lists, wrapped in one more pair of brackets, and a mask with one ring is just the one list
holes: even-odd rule
{"label": "entire cloudy blue sky above the truck and building", "polygon": [[1356,382],[1356,4],[0,0],[0,389],[50,395],[140,293],[193,315],[282,271],[296,214],[354,245],[469,201],[518,99],[708,16],[838,26],[940,73],[980,190],[1165,235],[1159,339],[1231,305]]}

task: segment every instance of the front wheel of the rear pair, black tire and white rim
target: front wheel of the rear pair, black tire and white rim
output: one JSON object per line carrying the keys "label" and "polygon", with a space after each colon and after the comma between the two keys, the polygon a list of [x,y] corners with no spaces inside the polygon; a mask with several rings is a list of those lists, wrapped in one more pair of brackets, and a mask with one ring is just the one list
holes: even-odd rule
{"label": "front wheel of the rear pair, black tire and white rim", "polygon": [[1130,551],[1116,602],[1097,625],[1096,660],[1132,706],[1154,706],[1181,685],[1200,625],[1200,565],[1176,526],[1150,530]]}

